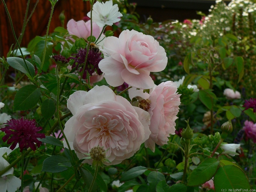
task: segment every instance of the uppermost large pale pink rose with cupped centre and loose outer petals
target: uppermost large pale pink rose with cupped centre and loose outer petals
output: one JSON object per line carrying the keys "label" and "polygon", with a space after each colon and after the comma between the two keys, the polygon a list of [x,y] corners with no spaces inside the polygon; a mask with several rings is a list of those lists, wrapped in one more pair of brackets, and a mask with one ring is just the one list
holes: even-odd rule
{"label": "uppermost large pale pink rose with cupped centre and loose outer petals", "polygon": [[150,35],[128,29],[119,38],[111,36],[104,41],[105,57],[99,63],[107,83],[117,87],[124,82],[140,89],[154,87],[150,72],[164,70],[167,57],[164,48]]}

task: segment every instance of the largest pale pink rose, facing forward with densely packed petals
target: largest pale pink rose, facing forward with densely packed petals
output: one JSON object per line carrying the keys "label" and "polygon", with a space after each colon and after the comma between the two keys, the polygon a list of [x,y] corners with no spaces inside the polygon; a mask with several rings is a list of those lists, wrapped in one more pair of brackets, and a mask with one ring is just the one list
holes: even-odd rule
{"label": "largest pale pink rose, facing forward with densely packed petals", "polygon": [[[74,116],[65,124],[64,132],[79,159],[100,146],[108,149],[110,164],[119,164],[133,156],[151,133],[149,113],[133,107],[105,85],[74,92],[67,106]],[[92,160],[84,163],[91,164]]]}

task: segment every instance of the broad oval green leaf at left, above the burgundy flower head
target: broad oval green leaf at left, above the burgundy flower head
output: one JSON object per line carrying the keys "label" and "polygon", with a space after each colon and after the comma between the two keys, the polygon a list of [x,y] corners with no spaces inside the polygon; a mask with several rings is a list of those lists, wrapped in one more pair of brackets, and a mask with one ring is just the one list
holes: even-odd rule
{"label": "broad oval green leaf at left, above the burgundy flower head", "polygon": [[26,111],[33,108],[39,101],[40,96],[40,89],[36,85],[21,87],[14,97],[13,110]]}

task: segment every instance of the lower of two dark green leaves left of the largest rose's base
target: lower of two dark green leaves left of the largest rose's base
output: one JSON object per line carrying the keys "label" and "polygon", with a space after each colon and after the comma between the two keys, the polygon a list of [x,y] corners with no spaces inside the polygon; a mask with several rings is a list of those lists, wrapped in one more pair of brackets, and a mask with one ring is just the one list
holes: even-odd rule
{"label": "lower of two dark green leaves left of the largest rose's base", "polygon": [[53,155],[44,160],[42,171],[58,173],[68,169],[67,167],[59,166],[59,163],[71,167],[71,163],[66,157]]}

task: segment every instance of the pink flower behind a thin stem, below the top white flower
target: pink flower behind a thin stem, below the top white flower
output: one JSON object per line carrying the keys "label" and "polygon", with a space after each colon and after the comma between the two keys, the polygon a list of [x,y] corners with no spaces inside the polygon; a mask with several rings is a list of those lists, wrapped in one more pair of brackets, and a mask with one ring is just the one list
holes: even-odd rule
{"label": "pink flower behind a thin stem, below the top white flower", "polygon": [[[84,22],[83,20],[75,21],[73,19],[68,21],[67,24],[68,33],[77,37],[87,39],[91,36],[91,20]],[[102,28],[100,28],[95,22],[92,22],[92,35],[97,39],[100,36]]]}

